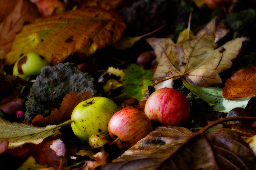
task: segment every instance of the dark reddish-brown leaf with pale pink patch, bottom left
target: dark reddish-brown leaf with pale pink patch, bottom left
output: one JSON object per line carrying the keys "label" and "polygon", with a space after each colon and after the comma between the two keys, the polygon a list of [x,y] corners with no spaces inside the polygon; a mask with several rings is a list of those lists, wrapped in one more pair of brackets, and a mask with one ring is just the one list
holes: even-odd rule
{"label": "dark reddish-brown leaf with pale pink patch, bottom left", "polygon": [[27,144],[24,147],[8,149],[6,153],[24,159],[33,156],[37,164],[51,167],[58,167],[60,159],[63,158],[62,166],[67,165],[66,147],[61,139],[43,141],[40,144]]}

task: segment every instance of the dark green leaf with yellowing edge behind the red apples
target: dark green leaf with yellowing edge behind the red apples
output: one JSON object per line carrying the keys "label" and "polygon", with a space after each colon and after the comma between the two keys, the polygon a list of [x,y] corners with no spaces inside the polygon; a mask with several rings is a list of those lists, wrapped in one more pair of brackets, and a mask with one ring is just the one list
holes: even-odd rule
{"label": "dark green leaf with yellowing edge behind the red apples", "polygon": [[144,70],[137,64],[131,64],[125,70],[122,92],[128,93],[127,97],[134,96],[141,100],[145,96],[141,90],[148,88],[153,83],[151,80],[153,75],[153,72]]}

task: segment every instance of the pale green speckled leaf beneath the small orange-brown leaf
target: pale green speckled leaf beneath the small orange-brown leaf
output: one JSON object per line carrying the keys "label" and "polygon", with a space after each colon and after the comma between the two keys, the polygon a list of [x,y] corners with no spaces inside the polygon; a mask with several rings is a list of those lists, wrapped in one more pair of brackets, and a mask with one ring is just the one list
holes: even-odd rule
{"label": "pale green speckled leaf beneath the small orange-brown leaf", "polygon": [[222,96],[222,88],[218,87],[200,87],[192,86],[187,81],[182,79],[183,84],[187,89],[194,92],[202,100],[213,106],[214,111],[227,113],[235,107],[245,108],[252,97],[225,99]]}

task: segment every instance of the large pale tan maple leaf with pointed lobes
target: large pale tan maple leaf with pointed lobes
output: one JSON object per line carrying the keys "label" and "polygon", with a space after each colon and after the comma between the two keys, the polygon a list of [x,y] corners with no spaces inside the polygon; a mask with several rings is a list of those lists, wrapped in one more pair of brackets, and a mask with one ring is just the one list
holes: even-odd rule
{"label": "large pale tan maple leaf with pointed lobes", "polygon": [[215,18],[196,36],[175,44],[170,38],[149,38],[147,42],[154,49],[158,66],[154,80],[183,76],[191,85],[211,86],[222,83],[219,73],[232,65],[242,42],[236,38],[215,49]]}

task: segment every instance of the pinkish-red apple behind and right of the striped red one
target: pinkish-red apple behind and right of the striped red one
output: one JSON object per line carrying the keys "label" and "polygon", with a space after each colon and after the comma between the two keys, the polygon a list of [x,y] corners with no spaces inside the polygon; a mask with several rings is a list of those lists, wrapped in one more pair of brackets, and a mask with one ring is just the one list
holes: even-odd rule
{"label": "pinkish-red apple behind and right of the striped red one", "polygon": [[185,95],[173,88],[160,88],[154,91],[145,104],[145,114],[152,122],[178,126],[188,121],[190,104]]}

